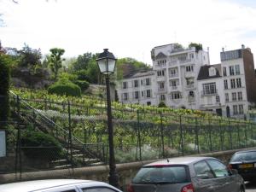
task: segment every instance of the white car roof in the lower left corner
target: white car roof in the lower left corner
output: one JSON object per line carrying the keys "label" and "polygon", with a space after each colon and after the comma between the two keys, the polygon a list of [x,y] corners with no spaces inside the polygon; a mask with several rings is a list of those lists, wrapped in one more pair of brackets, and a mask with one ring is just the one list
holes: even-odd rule
{"label": "white car roof in the lower left corner", "polygon": [[17,183],[7,183],[0,185],[1,192],[28,192],[35,191],[40,189],[49,189],[54,187],[64,187],[65,185],[75,185],[75,184],[84,184],[88,183],[89,185],[100,184],[106,185],[106,183],[90,181],[90,180],[82,180],[82,179],[44,179],[44,180],[36,180],[36,181],[26,181],[26,182],[17,182]]}

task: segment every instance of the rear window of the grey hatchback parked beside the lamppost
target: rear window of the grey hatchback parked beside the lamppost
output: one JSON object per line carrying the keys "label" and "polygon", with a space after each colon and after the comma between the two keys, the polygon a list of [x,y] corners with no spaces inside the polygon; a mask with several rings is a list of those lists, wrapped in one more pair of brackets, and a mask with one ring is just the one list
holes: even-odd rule
{"label": "rear window of the grey hatchback parked beside the lamppost", "polygon": [[187,183],[185,166],[144,166],[132,183]]}

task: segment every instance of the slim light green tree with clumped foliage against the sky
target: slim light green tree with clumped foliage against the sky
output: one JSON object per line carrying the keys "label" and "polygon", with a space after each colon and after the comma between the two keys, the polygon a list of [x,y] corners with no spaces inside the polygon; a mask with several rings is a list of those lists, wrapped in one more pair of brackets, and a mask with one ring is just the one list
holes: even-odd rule
{"label": "slim light green tree with clumped foliage against the sky", "polygon": [[60,48],[53,48],[49,49],[49,51],[49,67],[51,71],[54,73],[54,79],[57,79],[59,69],[62,67],[62,61],[64,61],[64,59],[61,58],[61,55],[65,53],[65,50]]}

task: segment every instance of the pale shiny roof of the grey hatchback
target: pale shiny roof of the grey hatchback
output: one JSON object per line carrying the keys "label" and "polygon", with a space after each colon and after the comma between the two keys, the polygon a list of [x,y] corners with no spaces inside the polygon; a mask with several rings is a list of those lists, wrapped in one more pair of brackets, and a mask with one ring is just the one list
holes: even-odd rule
{"label": "pale shiny roof of the grey hatchback", "polygon": [[189,164],[194,164],[195,162],[198,162],[200,160],[209,160],[213,159],[216,160],[213,157],[176,157],[176,158],[170,158],[166,160],[160,160],[156,161],[154,163],[149,163],[148,165],[145,166],[158,166],[158,165],[163,165],[163,166],[168,166],[168,165],[185,165],[189,166]]}

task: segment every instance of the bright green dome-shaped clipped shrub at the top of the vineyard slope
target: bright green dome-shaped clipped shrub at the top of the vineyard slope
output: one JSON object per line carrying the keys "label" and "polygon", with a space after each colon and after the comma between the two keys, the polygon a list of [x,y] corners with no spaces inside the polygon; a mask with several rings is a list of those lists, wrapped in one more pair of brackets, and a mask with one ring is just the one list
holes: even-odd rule
{"label": "bright green dome-shaped clipped shrub at the top of the vineyard slope", "polygon": [[61,79],[49,86],[48,93],[60,96],[81,96],[81,89],[79,85],[73,84],[68,79]]}

